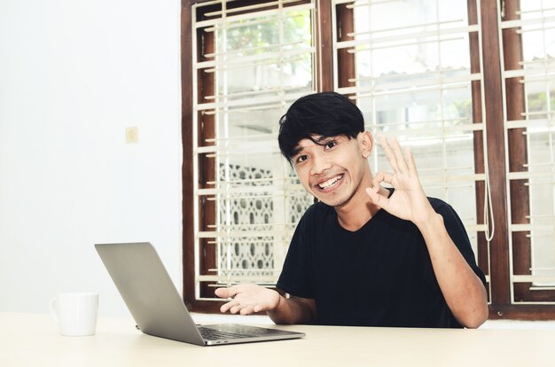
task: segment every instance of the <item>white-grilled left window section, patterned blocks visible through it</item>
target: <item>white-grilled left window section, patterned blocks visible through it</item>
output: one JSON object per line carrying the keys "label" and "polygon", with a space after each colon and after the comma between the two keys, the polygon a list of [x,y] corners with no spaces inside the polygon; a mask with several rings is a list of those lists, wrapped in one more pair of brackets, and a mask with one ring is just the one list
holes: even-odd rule
{"label": "white-grilled left window section, patterned blocks visible through it", "polygon": [[[294,226],[313,202],[277,146],[279,118],[316,90],[313,12],[312,2],[287,0],[193,5],[197,285],[274,285]],[[211,129],[209,138],[198,127]],[[199,175],[207,171],[213,180]],[[205,225],[207,216],[213,222]],[[216,261],[202,270],[206,246]]]}

